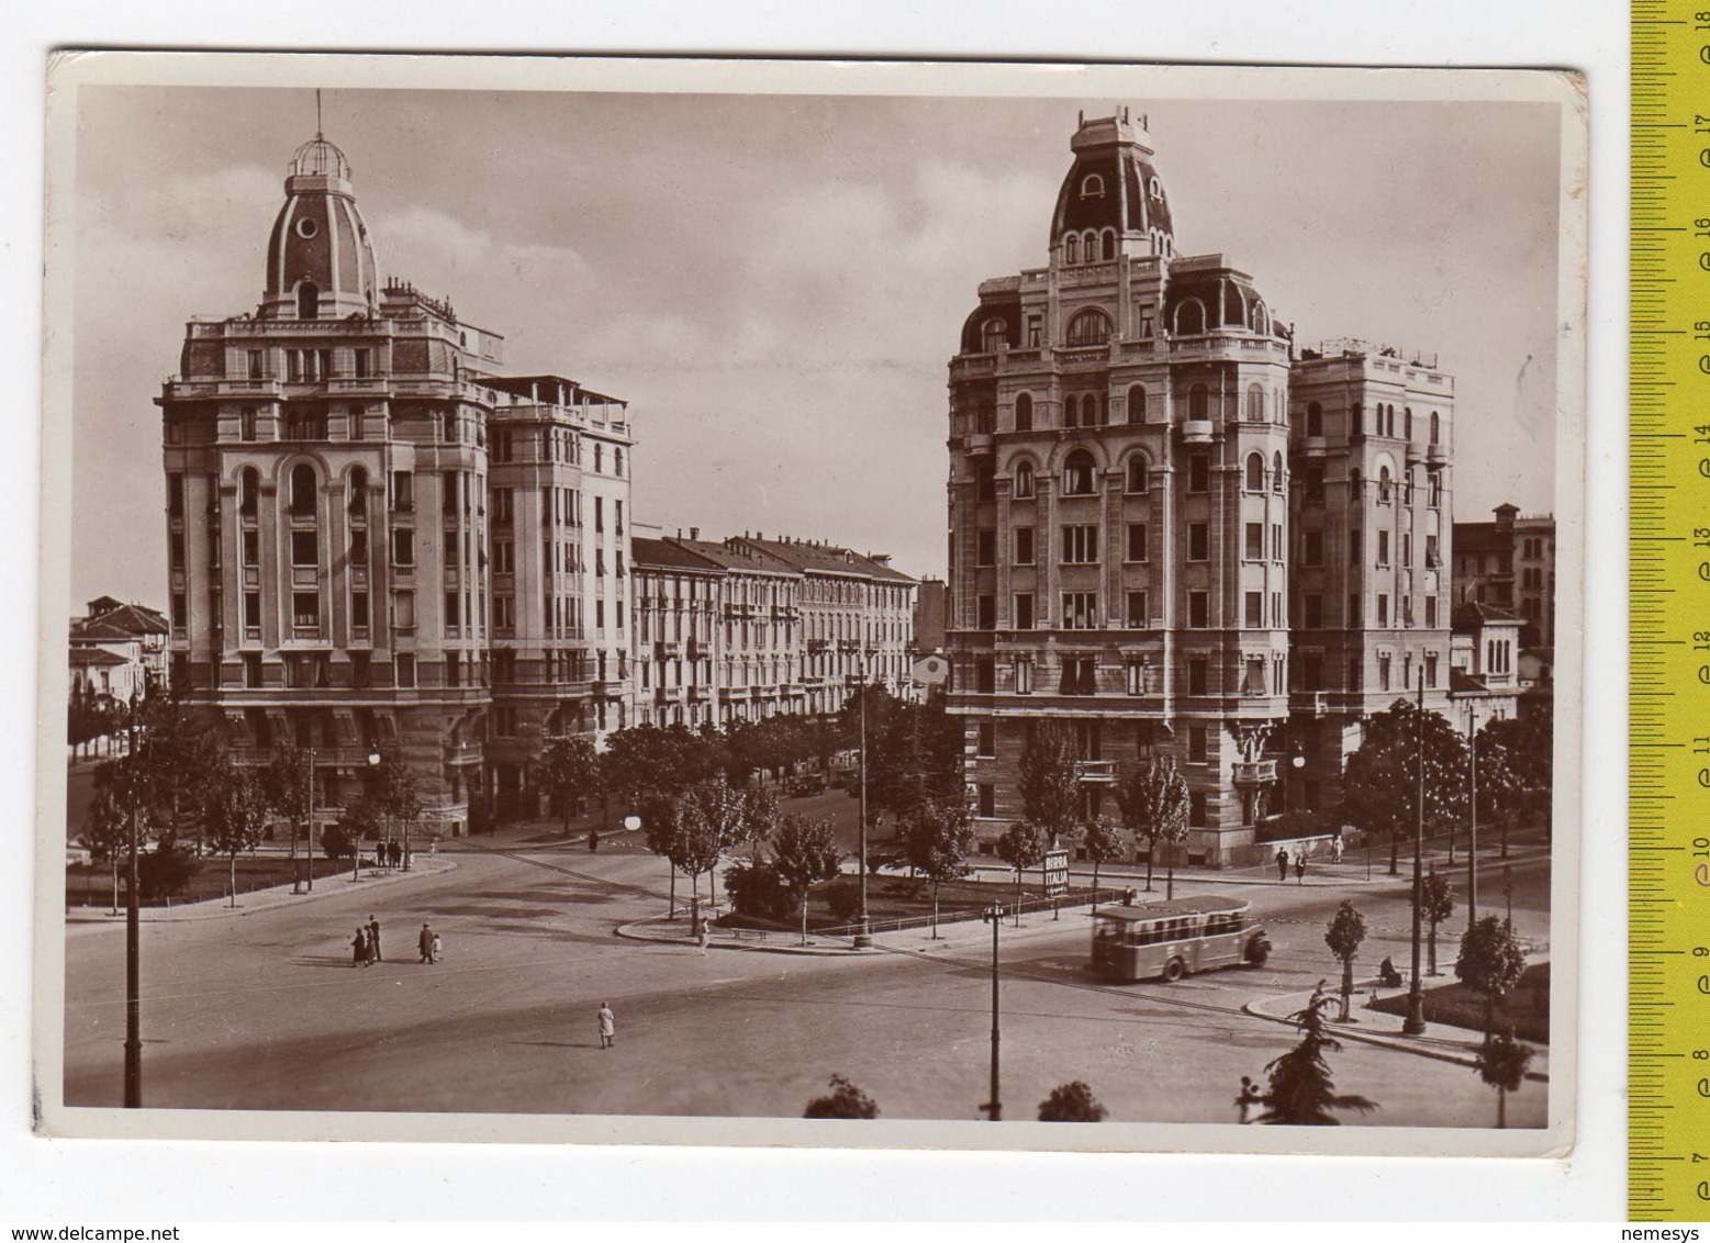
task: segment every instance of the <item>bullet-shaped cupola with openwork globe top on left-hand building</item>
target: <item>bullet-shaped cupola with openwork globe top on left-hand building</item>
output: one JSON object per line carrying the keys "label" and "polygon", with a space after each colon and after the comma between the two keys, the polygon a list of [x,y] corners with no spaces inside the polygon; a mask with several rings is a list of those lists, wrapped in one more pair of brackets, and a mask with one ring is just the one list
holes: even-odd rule
{"label": "bullet-shaped cupola with openwork globe top on left-hand building", "polygon": [[344,320],[378,304],[374,244],[356,205],[351,161],[316,133],[298,147],[267,243],[263,320]]}

